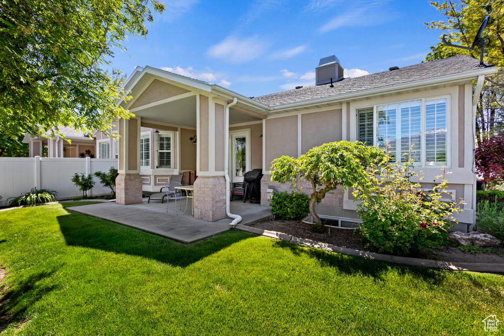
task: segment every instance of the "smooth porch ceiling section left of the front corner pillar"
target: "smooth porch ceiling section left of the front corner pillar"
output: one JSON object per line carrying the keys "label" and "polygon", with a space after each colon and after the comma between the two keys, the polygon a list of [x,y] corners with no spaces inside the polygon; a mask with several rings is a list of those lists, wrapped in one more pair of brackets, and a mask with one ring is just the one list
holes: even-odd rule
{"label": "smooth porch ceiling section left of the front corner pillar", "polygon": [[196,127],[196,96],[152,106],[135,114],[152,121]]}

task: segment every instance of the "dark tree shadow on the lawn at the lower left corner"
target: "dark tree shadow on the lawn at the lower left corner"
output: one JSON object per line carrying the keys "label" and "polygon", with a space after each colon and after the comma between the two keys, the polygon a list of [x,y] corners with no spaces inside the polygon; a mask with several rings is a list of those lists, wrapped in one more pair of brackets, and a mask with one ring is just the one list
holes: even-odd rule
{"label": "dark tree shadow on the lawn at the lower left corner", "polygon": [[[5,272],[4,268],[2,270]],[[43,279],[49,278],[54,272],[55,270],[51,270],[32,274],[27,279],[12,284],[12,288],[3,284],[0,299],[0,332],[13,323],[22,325],[26,321],[26,311],[57,288],[56,285],[42,283]],[[3,282],[5,276],[4,274]]]}

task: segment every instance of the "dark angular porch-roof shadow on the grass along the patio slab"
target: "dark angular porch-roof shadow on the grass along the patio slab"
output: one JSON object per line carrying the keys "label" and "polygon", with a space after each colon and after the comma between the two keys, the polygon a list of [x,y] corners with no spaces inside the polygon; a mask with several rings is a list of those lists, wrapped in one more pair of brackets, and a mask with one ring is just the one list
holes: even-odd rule
{"label": "dark angular porch-roof shadow on the grass along the patio slab", "polygon": [[227,231],[189,245],[106,220],[70,213],[57,217],[67,245],[151,258],[186,267],[243,239],[241,231]]}

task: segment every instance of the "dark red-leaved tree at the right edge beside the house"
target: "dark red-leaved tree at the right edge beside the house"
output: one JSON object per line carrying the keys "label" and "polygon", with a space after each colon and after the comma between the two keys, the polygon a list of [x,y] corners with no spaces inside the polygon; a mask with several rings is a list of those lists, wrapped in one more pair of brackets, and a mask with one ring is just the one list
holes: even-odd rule
{"label": "dark red-leaved tree at the right edge beside the house", "polygon": [[478,175],[483,182],[504,179],[504,137],[484,139],[474,152]]}

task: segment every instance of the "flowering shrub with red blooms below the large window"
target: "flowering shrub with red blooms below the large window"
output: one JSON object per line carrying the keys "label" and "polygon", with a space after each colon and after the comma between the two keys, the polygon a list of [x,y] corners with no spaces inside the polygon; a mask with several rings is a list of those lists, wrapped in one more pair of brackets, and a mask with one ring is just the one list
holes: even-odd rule
{"label": "flowering shrub with red blooms below the large window", "polygon": [[441,233],[451,215],[460,212],[462,201],[449,204],[440,200],[447,189],[445,175],[436,177],[432,190],[425,193],[419,183],[421,174],[418,182],[411,181],[417,176],[410,170],[412,164],[409,157],[403,165],[390,164],[368,175],[370,187],[354,189],[354,196],[362,201],[357,206],[363,221],[360,233],[369,241],[368,247],[401,255],[436,245],[443,239]]}

